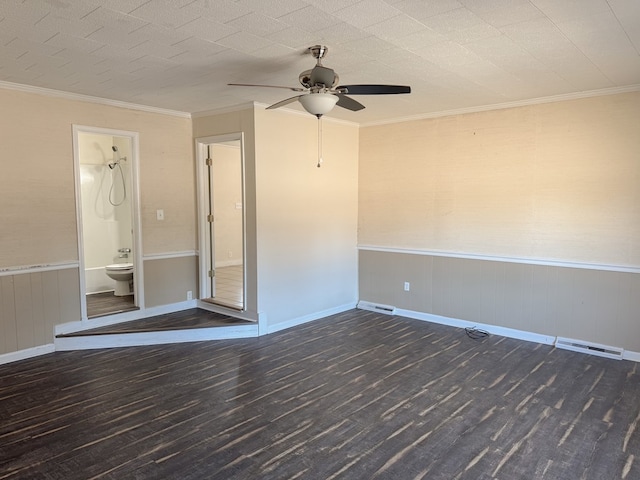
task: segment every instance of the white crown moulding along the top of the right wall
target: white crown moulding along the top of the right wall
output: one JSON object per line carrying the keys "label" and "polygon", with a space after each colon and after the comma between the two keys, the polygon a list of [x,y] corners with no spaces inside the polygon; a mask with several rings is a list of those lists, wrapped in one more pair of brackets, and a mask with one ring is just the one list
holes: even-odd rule
{"label": "white crown moulding along the top of the right wall", "polygon": [[427,120],[430,118],[450,117],[453,115],[465,115],[468,113],[487,112],[491,110],[503,110],[506,108],[526,107],[530,105],[540,105],[544,103],[566,102],[569,100],[579,100],[581,98],[604,97],[606,95],[617,95],[620,93],[637,92],[640,84],[628,85],[625,87],[603,88],[600,90],[587,90],[584,92],[564,93],[551,95],[549,97],[530,98],[526,100],[516,100],[513,102],[495,103],[492,105],[479,105],[477,107],[458,108],[455,110],[442,110],[439,112],[422,113],[408,117],[398,117],[387,120],[377,120],[373,122],[361,123],[361,127],[373,127],[378,125],[389,125],[392,123],[413,122],[417,120]]}

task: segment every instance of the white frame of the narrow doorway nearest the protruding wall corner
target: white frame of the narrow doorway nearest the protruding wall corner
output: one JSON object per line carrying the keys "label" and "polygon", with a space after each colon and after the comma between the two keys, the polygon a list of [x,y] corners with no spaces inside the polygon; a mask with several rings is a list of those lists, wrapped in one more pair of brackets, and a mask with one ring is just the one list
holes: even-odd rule
{"label": "white frame of the narrow doorway nearest the protruding wall corner", "polygon": [[197,190],[198,190],[198,273],[200,280],[200,294],[198,298],[210,298],[211,277],[208,275],[209,262],[212,248],[210,242],[212,239],[207,235],[208,222],[207,212],[209,205],[208,192],[208,171],[206,165],[207,146],[213,143],[225,143],[238,140],[240,141],[240,165],[241,165],[241,182],[242,182],[242,265],[243,265],[243,289],[242,289],[242,312],[247,310],[247,239],[246,239],[246,211],[245,211],[245,171],[244,171],[244,133],[231,133],[227,135],[214,135],[210,137],[196,138],[196,174],[197,174]]}

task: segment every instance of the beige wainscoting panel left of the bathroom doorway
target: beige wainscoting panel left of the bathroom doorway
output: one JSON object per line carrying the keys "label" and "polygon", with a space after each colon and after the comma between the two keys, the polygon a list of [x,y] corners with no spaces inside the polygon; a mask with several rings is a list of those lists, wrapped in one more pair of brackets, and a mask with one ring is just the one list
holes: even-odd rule
{"label": "beige wainscoting panel left of the bathroom doorway", "polygon": [[0,277],[0,354],[53,343],[56,325],[80,320],[77,268]]}

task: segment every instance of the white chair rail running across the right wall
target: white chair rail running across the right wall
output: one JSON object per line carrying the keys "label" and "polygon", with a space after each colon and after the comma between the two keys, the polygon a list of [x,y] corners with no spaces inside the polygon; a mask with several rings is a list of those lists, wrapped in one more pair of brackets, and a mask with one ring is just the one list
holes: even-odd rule
{"label": "white chair rail running across the right wall", "polygon": [[432,257],[466,258],[470,260],[486,260],[489,262],[522,263],[527,265],[545,265],[549,267],[581,268],[586,270],[604,270],[608,272],[640,273],[640,267],[633,265],[607,265],[600,263],[570,262],[528,257],[500,257],[463,252],[445,252],[439,250],[421,250],[396,247],[379,247],[374,245],[358,245],[358,250],[386,253],[405,253],[408,255],[427,255]]}

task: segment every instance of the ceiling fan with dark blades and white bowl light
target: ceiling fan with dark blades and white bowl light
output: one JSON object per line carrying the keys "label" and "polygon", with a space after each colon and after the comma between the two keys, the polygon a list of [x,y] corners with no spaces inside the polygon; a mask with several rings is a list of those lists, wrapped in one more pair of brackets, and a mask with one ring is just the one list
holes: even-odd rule
{"label": "ceiling fan with dark blades and white bowl light", "polygon": [[324,45],[309,47],[307,52],[316,59],[316,66],[311,70],[305,70],[298,77],[302,87],[281,87],[277,85],[255,85],[247,83],[229,83],[239,87],[270,87],[284,88],[294,92],[303,92],[295,97],[287,98],[281,102],[267,107],[267,110],[282,107],[299,101],[304,109],[318,119],[325,113],[329,113],[334,106],[339,106],[357,112],[364,105],[348,95],[389,95],[398,93],[411,93],[411,87],[404,85],[338,85],[338,74],[331,68],[322,65],[322,59],[329,49]]}

